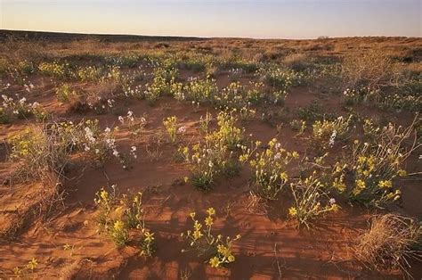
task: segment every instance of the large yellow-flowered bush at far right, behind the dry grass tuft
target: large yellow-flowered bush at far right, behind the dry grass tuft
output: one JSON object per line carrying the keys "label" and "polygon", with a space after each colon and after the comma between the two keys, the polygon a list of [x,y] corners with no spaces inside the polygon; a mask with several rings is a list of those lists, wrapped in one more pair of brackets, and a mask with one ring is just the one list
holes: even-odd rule
{"label": "large yellow-flowered bush at far right, behind the dry grass tuft", "polygon": [[386,202],[400,199],[402,192],[394,187],[394,179],[407,175],[402,163],[410,152],[420,146],[413,144],[407,151],[403,147],[403,142],[412,135],[413,128],[414,125],[397,128],[389,124],[378,133],[376,143],[354,141],[346,168],[353,174],[353,186],[349,193],[352,201],[382,207]]}

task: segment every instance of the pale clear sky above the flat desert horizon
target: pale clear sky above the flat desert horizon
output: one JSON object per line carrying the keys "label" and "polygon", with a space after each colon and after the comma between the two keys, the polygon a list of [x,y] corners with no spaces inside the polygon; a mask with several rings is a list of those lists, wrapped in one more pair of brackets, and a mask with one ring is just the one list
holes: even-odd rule
{"label": "pale clear sky above the flat desert horizon", "polygon": [[193,37],[422,37],[422,0],[0,0],[0,29]]}

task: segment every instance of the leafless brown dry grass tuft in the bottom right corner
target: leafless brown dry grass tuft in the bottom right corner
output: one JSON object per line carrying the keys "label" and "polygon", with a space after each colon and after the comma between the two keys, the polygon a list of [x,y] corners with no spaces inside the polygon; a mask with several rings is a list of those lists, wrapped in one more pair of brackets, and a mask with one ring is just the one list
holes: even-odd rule
{"label": "leafless brown dry grass tuft in the bottom right corner", "polygon": [[369,230],[359,237],[355,253],[368,268],[400,268],[410,276],[410,259],[422,259],[421,238],[422,226],[411,218],[375,216]]}

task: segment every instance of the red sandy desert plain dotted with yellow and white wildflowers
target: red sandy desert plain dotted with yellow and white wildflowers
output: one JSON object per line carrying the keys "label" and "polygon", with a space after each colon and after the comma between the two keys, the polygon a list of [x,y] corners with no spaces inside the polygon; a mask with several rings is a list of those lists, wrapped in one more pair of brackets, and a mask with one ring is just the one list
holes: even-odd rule
{"label": "red sandy desert plain dotted with yellow and white wildflowers", "polygon": [[0,40],[0,278],[418,277],[418,38]]}

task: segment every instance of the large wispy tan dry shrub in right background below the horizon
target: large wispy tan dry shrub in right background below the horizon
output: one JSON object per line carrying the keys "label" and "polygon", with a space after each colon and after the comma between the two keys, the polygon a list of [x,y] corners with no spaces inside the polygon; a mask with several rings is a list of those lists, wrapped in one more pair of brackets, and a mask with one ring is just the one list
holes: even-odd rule
{"label": "large wispy tan dry shrub in right background below the horizon", "polygon": [[388,86],[394,78],[394,63],[382,51],[347,54],[342,64],[346,86]]}

